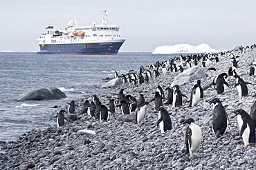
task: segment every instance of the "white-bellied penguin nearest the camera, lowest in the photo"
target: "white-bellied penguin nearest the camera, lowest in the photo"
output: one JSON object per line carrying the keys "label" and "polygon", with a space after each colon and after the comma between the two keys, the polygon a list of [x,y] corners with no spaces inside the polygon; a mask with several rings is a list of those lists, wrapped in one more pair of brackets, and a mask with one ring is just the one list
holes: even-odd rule
{"label": "white-bellied penguin nearest the camera, lowest in the photo", "polygon": [[187,153],[192,155],[199,147],[202,139],[202,131],[199,125],[194,123],[192,118],[185,120],[184,123],[188,123],[188,127],[185,134],[185,144]]}

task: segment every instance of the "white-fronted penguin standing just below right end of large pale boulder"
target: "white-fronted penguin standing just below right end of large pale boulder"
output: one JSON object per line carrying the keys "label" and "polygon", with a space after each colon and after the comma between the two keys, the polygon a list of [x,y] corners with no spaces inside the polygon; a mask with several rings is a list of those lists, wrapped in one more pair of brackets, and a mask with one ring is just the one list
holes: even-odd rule
{"label": "white-fronted penguin standing just below right end of large pale boulder", "polygon": [[198,80],[194,87],[192,88],[192,92],[190,95],[190,107],[195,106],[199,103],[200,98],[203,97],[203,89],[201,87],[201,81]]}

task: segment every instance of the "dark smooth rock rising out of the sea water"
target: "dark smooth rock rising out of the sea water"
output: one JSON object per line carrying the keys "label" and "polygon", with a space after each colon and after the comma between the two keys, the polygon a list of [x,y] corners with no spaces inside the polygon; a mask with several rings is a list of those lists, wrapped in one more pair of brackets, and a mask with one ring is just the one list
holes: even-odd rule
{"label": "dark smooth rock rising out of the sea water", "polygon": [[53,100],[66,98],[66,94],[64,94],[60,89],[55,87],[42,88],[42,89],[33,89],[28,92],[21,94],[17,100]]}

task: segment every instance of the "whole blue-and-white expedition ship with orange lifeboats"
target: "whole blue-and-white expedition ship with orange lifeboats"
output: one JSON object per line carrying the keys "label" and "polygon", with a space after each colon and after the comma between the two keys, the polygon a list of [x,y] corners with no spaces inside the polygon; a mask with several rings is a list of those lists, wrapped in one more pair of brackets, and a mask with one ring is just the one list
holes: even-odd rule
{"label": "whole blue-and-white expedition ship with orange lifeboats", "polygon": [[107,13],[102,10],[102,24],[77,26],[68,21],[64,31],[55,30],[53,26],[46,28],[46,33],[37,38],[40,51],[37,54],[118,54],[125,39],[119,34],[119,26],[109,25]]}

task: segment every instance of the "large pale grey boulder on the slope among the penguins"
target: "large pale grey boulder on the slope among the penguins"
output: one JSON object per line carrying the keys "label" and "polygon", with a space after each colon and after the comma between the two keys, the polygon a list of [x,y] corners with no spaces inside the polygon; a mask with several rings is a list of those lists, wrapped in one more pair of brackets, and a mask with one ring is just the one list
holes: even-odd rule
{"label": "large pale grey boulder on the slope among the penguins", "polygon": [[190,83],[196,79],[204,78],[206,76],[206,71],[207,70],[204,67],[191,67],[190,69],[175,76],[171,86],[184,85],[185,83]]}

